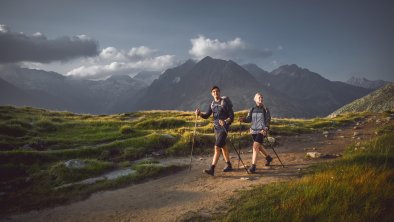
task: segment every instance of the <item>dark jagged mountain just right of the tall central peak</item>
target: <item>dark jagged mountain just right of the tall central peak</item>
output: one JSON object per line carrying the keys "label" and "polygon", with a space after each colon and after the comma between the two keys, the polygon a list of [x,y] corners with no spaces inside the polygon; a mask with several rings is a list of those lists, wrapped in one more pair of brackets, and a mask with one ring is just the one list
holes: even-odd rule
{"label": "dark jagged mountain just right of the tall central peak", "polygon": [[297,101],[306,117],[327,115],[330,110],[338,109],[371,91],[330,81],[295,64],[280,66],[270,73],[250,65],[247,69],[260,76],[257,79],[264,86]]}

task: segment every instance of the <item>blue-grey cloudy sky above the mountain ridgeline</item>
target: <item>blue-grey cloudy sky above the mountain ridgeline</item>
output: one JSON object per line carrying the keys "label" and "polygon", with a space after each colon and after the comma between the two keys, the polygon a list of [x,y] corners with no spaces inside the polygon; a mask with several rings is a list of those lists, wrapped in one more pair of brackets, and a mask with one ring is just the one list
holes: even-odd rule
{"label": "blue-grey cloudy sky above the mountain ridgeline", "polygon": [[0,64],[105,78],[205,56],[394,80],[390,0],[0,0]]}

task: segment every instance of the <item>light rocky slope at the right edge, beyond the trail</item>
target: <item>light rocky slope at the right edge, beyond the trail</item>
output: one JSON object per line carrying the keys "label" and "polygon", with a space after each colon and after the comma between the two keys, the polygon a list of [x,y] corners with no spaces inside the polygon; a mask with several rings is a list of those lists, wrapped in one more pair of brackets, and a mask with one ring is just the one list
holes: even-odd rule
{"label": "light rocky slope at the right edge, beyond the trail", "polygon": [[386,84],[382,88],[341,107],[330,116],[347,112],[383,112],[387,110],[394,110],[394,83]]}

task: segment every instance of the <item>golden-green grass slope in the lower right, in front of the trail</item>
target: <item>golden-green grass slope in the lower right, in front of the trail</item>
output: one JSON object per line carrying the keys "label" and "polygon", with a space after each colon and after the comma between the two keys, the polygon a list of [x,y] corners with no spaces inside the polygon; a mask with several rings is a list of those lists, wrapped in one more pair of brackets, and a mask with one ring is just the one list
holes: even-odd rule
{"label": "golden-green grass slope in the lower right, in front of the trail", "polygon": [[394,133],[297,181],[243,191],[217,221],[392,221]]}

